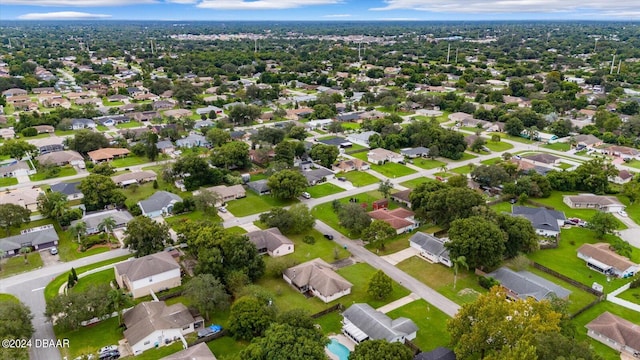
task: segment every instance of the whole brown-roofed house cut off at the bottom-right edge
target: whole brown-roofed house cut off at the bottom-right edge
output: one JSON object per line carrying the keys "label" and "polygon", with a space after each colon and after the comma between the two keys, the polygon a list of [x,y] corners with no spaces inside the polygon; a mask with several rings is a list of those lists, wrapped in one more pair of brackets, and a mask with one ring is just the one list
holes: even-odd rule
{"label": "whole brown-roofed house cut off at the bottom-right edge", "polygon": [[587,335],[608,347],[640,356],[640,325],[605,311],[585,327]]}

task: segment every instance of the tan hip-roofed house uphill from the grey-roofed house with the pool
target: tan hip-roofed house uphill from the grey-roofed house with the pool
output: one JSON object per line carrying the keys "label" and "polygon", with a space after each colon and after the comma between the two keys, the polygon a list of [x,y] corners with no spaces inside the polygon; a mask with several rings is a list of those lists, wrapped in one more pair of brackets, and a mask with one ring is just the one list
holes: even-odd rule
{"label": "tan hip-roofed house uphill from the grey-roofed house with the pool", "polygon": [[314,295],[325,303],[351,294],[353,286],[320,258],[285,270],[282,278],[301,293]]}

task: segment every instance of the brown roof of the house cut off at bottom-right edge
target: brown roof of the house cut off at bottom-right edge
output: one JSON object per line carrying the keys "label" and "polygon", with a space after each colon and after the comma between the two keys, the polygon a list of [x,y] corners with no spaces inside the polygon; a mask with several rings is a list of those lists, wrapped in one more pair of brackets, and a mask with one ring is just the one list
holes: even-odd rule
{"label": "brown roof of the house cut off at bottom-right edge", "polygon": [[586,325],[621,345],[640,350],[640,326],[606,311]]}

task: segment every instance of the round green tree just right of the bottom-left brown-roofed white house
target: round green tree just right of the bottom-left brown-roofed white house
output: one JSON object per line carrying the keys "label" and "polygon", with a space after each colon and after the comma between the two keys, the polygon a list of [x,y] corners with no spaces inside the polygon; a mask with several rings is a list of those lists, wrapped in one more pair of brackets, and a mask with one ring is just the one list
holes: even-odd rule
{"label": "round green tree just right of the bottom-left brown-roofed white house", "polygon": [[275,319],[273,307],[252,296],[243,296],[231,305],[229,331],[240,340],[264,335]]}

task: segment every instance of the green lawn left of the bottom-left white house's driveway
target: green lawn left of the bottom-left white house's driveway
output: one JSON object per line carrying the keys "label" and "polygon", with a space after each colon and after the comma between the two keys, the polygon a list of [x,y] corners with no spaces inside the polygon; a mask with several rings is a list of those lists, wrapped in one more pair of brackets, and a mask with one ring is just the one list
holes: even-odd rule
{"label": "green lawn left of the bottom-left white house's driveway", "polygon": [[57,326],[54,326],[54,330],[58,339],[69,339],[69,347],[60,348],[62,356],[68,359],[95,354],[103,346],[118,344],[123,337],[117,317],[75,331],[61,331]]}

